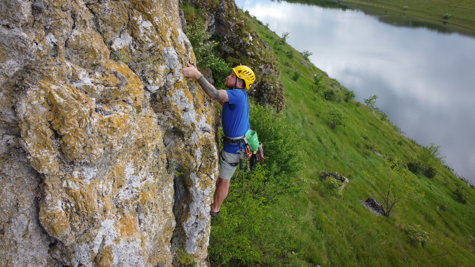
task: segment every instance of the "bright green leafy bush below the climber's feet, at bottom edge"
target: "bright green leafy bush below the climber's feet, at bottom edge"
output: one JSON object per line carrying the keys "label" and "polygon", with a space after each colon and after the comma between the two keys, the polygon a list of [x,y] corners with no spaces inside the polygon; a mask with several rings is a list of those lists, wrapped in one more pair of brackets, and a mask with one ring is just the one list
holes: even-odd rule
{"label": "bright green leafy bush below the climber's feet, at bottom edge", "polygon": [[212,221],[209,256],[230,267],[270,265],[295,246],[293,225],[287,210],[266,205],[233,184]]}

